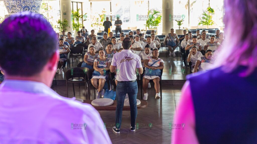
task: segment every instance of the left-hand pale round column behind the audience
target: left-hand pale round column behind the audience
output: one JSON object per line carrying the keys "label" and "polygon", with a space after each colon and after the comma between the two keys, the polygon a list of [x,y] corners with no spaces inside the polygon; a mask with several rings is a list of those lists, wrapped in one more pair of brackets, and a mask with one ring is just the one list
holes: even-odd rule
{"label": "left-hand pale round column behind the audience", "polygon": [[71,19],[71,0],[60,0],[61,20],[66,19],[70,27],[67,28],[68,32],[72,30],[72,19]]}

